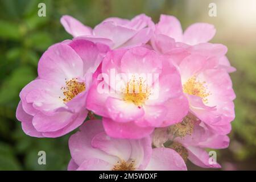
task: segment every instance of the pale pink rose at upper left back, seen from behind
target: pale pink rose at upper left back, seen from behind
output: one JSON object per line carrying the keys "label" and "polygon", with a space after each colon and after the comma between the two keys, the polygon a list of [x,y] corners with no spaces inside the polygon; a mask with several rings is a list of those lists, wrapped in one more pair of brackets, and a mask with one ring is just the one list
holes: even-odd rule
{"label": "pale pink rose at upper left back, seen from behind", "polygon": [[74,38],[84,36],[93,42],[108,44],[111,48],[140,46],[152,36],[154,23],[151,18],[141,14],[133,19],[108,18],[93,29],[84,26],[79,20],[64,15],[60,19],[65,30]]}

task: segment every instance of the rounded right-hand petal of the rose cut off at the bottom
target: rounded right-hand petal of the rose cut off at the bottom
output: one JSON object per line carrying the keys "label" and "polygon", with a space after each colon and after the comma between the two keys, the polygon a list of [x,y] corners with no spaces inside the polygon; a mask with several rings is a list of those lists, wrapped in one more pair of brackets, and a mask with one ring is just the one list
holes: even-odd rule
{"label": "rounded right-hand petal of the rose cut off at the bottom", "polygon": [[171,148],[154,148],[147,171],[186,171],[181,156]]}

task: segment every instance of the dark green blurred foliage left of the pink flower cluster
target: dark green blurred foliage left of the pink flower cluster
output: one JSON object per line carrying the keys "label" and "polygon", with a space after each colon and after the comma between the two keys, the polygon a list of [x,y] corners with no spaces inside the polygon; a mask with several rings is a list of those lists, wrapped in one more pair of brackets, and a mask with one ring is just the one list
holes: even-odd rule
{"label": "dark green blurred foliage left of the pink flower cluster", "polygon": [[[46,3],[46,17],[38,17],[40,2]],[[36,78],[40,56],[68,36],[60,30],[60,15],[51,15],[55,12],[51,7],[52,1],[0,2],[0,170],[65,170],[70,160],[70,134],[57,139],[32,138],[23,133],[15,117],[19,92]],[[38,164],[41,150],[46,151],[46,165]]]}

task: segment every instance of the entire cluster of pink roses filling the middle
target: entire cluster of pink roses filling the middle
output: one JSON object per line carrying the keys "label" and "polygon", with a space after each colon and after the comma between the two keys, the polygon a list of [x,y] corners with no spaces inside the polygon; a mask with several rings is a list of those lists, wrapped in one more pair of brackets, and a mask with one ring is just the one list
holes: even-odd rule
{"label": "entire cluster of pink roses filling the middle", "polygon": [[144,14],[94,28],[68,15],[60,22],[73,39],[49,47],[20,92],[24,133],[55,138],[81,126],[69,170],[221,167],[205,148],[229,145],[236,69],[224,45],[208,43],[213,25],[183,32],[174,16],[155,24]]}

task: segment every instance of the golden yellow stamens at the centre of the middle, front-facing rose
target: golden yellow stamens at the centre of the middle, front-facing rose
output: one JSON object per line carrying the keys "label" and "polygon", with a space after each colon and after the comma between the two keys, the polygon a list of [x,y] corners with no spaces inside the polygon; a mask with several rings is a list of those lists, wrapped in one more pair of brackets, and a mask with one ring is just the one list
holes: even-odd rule
{"label": "golden yellow stamens at the centre of the middle, front-facing rose", "polygon": [[133,102],[137,106],[142,106],[148,97],[150,96],[150,89],[148,88],[146,81],[141,77],[136,79],[133,77],[126,84],[126,88],[123,89],[123,100]]}

